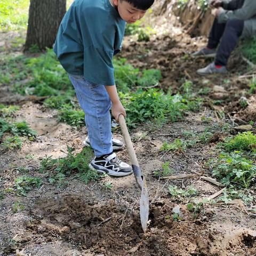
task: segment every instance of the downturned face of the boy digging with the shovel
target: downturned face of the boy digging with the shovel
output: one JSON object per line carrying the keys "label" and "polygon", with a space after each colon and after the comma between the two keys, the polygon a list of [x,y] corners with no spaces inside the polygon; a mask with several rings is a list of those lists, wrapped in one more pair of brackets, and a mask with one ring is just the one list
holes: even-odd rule
{"label": "downturned face of the boy digging with the shovel", "polygon": [[119,15],[127,23],[134,23],[135,21],[144,17],[147,11],[135,8],[132,4],[125,0],[113,0],[117,7]]}

